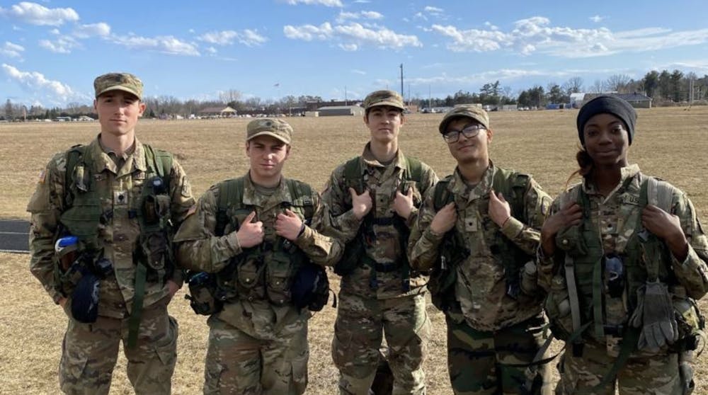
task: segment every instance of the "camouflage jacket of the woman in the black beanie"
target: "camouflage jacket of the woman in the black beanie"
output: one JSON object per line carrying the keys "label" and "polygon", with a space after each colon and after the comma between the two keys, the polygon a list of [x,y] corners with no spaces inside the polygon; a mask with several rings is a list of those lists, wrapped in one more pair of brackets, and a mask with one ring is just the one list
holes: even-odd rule
{"label": "camouflage jacket of the woman in the black beanie", "polygon": [[[639,166],[636,164],[622,168],[622,177],[617,188],[612,190],[607,197],[600,195],[595,185],[588,181],[573,185],[569,190],[556,197],[550,214],[560,210],[561,202],[569,204],[569,196],[577,196],[578,188],[582,188],[590,200],[590,207],[587,207],[589,208],[590,222],[600,233],[603,250],[605,253],[621,254],[630,237],[636,231],[641,230],[629,226],[636,223],[629,217],[641,215],[641,212],[630,214],[625,212],[627,209],[634,210],[633,207],[638,207],[636,203],[632,204],[631,199],[626,195],[628,190],[639,190],[644,178],[646,176],[639,171]],[[685,287],[688,296],[700,299],[708,292],[708,238],[703,233],[692,202],[678,188],[673,185],[670,188],[675,190],[670,214],[679,217],[681,229],[688,241],[688,255],[683,262],[679,262],[672,254],[671,262],[667,263],[668,268],[673,272],[680,285]],[[564,252],[561,249],[556,248],[554,256],[544,256],[542,249],[539,248],[539,264],[537,265],[539,285],[547,290],[551,288],[552,278],[558,273],[559,265],[562,265],[563,260]],[[627,319],[626,316],[620,318]]]}

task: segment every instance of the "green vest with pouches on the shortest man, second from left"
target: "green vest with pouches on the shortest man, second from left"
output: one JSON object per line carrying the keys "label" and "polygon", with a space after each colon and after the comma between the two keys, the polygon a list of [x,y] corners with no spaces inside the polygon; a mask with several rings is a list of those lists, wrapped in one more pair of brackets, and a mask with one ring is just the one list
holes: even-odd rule
{"label": "green vest with pouches on the shortest man, second from left", "polygon": [[[305,223],[309,222],[314,215],[312,189],[299,181],[288,179],[286,182],[293,201],[292,204],[284,203],[282,208],[300,207]],[[224,181],[218,186],[215,235],[223,236],[237,231],[253,208],[243,204],[244,178]],[[287,262],[284,263],[286,270],[294,269],[295,273],[270,273],[273,268],[263,262],[264,248],[274,251],[278,256],[275,261]],[[273,282],[278,287],[265,280],[265,277],[270,279],[273,276],[279,279]],[[282,237],[278,237],[274,244],[264,242],[244,249],[219,273],[190,272],[188,280],[190,294],[185,298],[190,300],[195,313],[202,315],[215,314],[223,309],[224,303],[234,302],[239,297],[268,297],[276,305],[292,302],[298,309],[307,307],[310,311],[319,311],[327,304],[330,292],[326,270],[312,263],[295,244]],[[265,294],[254,290],[261,282],[266,282]]]}

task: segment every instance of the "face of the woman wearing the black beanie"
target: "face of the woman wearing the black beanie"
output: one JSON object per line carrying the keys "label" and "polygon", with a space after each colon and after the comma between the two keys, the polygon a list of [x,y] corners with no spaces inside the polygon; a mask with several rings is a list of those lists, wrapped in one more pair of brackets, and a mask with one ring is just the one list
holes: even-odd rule
{"label": "face of the woman wearing the black beanie", "polygon": [[629,134],[624,122],[615,115],[594,115],[583,127],[583,137],[595,166],[627,166]]}

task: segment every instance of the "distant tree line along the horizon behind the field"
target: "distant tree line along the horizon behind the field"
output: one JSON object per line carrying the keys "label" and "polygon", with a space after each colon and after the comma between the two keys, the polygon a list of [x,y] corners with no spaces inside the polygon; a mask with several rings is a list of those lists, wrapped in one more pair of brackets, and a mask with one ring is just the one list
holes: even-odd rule
{"label": "distant tree line along the horizon behind the field", "polygon": [[[673,71],[652,70],[641,79],[632,79],[626,74],[614,74],[605,80],[595,80],[585,85],[579,76],[572,77],[562,84],[552,82],[547,86],[534,85],[530,88],[513,92],[508,86],[501,86],[499,81],[487,83],[479,88],[479,92],[463,91],[462,89],[444,98],[421,98],[416,95],[406,98],[410,104],[426,107],[452,107],[462,103],[482,103],[484,105],[515,104],[523,107],[544,108],[549,103],[569,103],[571,93],[642,93],[653,99],[653,105],[676,105],[681,103],[707,104],[708,74],[699,77],[693,72],[684,73],[678,69]],[[358,103],[361,99],[351,100]],[[326,105],[320,96],[284,96],[279,100],[244,97],[236,89],[219,93],[219,98],[211,101],[189,99],[182,101],[173,96],[151,96],[144,98],[147,106],[145,116],[148,118],[166,118],[179,115],[187,118],[189,115],[199,115],[200,111],[210,107],[234,108],[239,114],[289,114],[301,112],[309,103]],[[57,117],[76,118],[87,115],[96,118],[93,106],[85,103],[68,103],[65,107],[43,108],[41,105],[13,103],[7,99],[2,120],[36,120],[54,119]]]}

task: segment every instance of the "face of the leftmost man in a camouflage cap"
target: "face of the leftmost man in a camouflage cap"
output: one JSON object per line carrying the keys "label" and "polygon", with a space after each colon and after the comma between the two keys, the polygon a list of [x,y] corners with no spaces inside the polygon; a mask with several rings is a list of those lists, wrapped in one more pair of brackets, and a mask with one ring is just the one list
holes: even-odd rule
{"label": "face of the leftmost man in a camouflage cap", "polygon": [[114,90],[98,96],[93,108],[101,123],[101,133],[122,136],[135,133],[137,119],[145,111],[145,103],[132,93]]}

